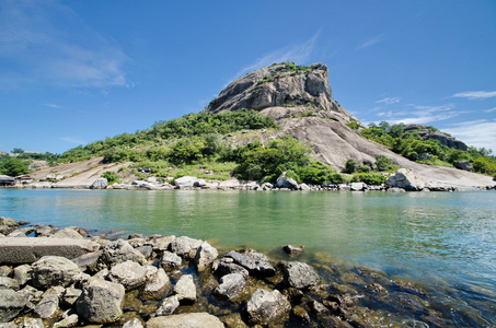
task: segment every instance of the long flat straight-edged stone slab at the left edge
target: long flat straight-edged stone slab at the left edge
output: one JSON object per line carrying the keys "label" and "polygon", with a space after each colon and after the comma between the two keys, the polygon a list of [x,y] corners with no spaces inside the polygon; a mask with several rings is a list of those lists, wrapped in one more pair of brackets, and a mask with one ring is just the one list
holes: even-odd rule
{"label": "long flat straight-edged stone slab at the left edge", "polygon": [[43,256],[74,258],[95,251],[100,245],[90,241],[68,238],[0,238],[0,263],[24,265]]}

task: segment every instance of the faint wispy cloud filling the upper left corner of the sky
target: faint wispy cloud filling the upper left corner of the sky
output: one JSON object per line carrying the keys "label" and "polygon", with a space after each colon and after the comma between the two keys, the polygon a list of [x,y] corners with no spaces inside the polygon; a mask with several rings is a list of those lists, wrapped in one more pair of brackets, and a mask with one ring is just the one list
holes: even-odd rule
{"label": "faint wispy cloud filling the upper left corner of the sky", "polygon": [[130,59],[57,0],[1,2],[0,58],[9,62],[2,68],[3,87],[12,82],[16,86],[131,85],[124,70]]}

